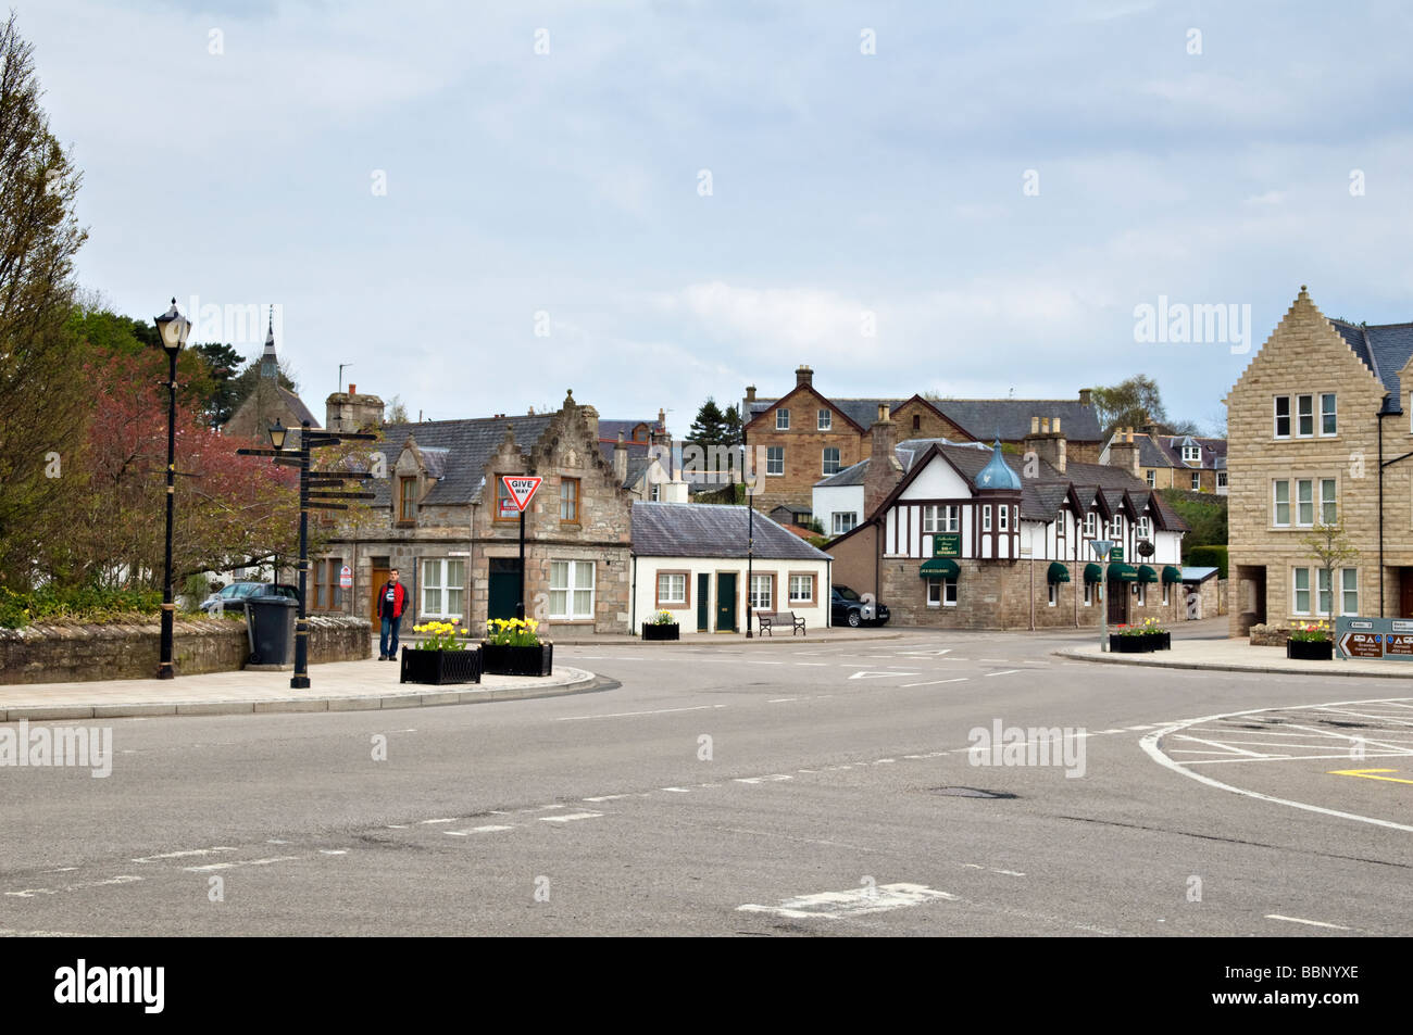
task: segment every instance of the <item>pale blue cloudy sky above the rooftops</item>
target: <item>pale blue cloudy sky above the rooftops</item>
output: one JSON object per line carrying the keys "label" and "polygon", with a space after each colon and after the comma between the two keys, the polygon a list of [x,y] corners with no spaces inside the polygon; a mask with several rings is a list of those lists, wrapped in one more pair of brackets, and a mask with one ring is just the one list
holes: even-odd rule
{"label": "pale blue cloudy sky above the rooftops", "polygon": [[682,435],[810,364],[836,397],[1142,373],[1215,429],[1303,284],[1413,319],[1407,4],[11,3],[82,285],[247,357],[276,305],[319,415],[352,364],[414,418],[572,388]]}

